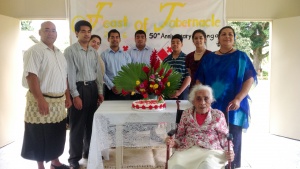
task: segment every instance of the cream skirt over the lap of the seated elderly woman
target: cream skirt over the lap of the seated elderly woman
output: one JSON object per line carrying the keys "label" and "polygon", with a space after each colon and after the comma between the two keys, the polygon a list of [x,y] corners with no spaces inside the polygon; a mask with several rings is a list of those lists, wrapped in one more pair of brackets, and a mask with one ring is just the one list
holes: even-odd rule
{"label": "cream skirt over the lap of the seated elderly woman", "polygon": [[168,161],[169,169],[221,169],[227,160],[222,150],[208,150],[193,146],[184,151],[175,151]]}

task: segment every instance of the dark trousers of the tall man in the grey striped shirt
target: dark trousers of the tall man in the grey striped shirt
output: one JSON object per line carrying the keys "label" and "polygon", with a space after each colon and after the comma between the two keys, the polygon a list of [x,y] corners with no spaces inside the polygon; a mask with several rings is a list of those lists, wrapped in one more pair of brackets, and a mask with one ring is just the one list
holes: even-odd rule
{"label": "dark trousers of the tall man in the grey striped shirt", "polygon": [[98,89],[95,82],[84,85],[77,83],[77,90],[82,100],[82,109],[78,110],[74,107],[68,109],[70,123],[70,150],[69,163],[77,166],[78,161],[88,158],[93,118],[97,110]]}

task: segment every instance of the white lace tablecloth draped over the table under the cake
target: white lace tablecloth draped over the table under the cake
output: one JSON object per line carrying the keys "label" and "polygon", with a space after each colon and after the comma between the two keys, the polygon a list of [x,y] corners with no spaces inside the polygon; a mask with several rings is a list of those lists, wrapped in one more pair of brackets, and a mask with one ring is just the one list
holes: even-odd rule
{"label": "white lace tablecloth draped over the table under the cake", "polygon": [[[176,101],[166,100],[167,108],[162,111],[136,111],[131,109],[132,101],[104,101],[94,115],[91,137],[88,169],[103,169],[102,156],[109,159],[108,150],[113,147],[153,146],[158,142],[141,133],[153,124],[170,129],[175,123]],[[191,104],[181,101],[180,109],[186,109]],[[152,123],[152,124],[151,124]],[[152,126],[151,126],[152,125]]]}

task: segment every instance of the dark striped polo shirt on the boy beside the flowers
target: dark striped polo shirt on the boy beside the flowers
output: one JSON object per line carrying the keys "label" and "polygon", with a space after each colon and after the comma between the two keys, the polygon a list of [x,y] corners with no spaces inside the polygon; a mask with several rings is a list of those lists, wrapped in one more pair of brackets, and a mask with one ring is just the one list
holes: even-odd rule
{"label": "dark striped polo shirt on the boy beside the flowers", "polygon": [[184,79],[189,75],[188,70],[185,67],[185,56],[186,54],[182,51],[180,52],[178,58],[174,59],[172,53],[164,59],[164,63],[168,63],[172,66],[177,72],[181,74],[180,84],[183,83]]}

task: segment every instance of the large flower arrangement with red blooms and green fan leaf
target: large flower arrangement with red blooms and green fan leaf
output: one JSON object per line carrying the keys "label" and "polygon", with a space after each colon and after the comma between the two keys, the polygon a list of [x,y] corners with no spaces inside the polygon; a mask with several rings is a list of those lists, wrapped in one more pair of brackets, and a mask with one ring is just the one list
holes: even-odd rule
{"label": "large flower arrangement with red blooms and green fan leaf", "polygon": [[180,85],[181,74],[174,71],[167,63],[161,63],[154,50],[150,57],[150,65],[145,63],[130,63],[121,68],[114,78],[114,84],[122,95],[140,93],[144,99],[149,95],[170,97]]}

